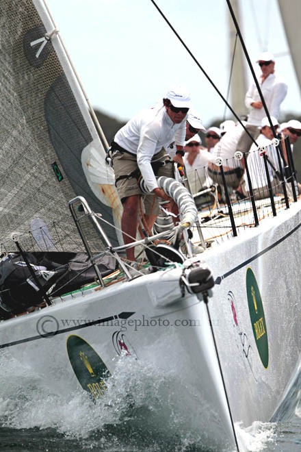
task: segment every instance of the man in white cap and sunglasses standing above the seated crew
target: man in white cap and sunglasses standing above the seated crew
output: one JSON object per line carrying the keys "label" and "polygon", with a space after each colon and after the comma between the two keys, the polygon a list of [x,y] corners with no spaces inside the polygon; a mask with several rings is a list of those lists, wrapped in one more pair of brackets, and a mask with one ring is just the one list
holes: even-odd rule
{"label": "man in white cap and sunglasses standing above the seated crew", "polygon": [[[259,55],[257,63],[261,68],[261,75],[259,77],[259,85],[261,86],[261,92],[269,111],[270,116],[278,118],[280,104],[285,99],[287,95],[287,84],[282,77],[276,75],[275,73],[275,58],[270,52],[263,52]],[[256,84],[253,82],[245,97],[246,107],[250,110],[248,114],[248,121],[246,124],[246,129],[249,134],[257,139],[259,136],[259,128],[261,126],[261,120],[266,116],[265,109],[261,102],[259,92],[257,90]],[[241,138],[237,144],[237,151],[242,153],[248,152],[250,146],[252,145],[252,139],[246,131],[241,134]]]}

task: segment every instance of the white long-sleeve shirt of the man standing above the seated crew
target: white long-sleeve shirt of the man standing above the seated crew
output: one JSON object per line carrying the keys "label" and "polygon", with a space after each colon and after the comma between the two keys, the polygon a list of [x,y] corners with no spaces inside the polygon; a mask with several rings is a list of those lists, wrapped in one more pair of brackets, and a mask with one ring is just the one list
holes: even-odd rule
{"label": "white long-sleeve shirt of the man standing above the seated crew", "polygon": [[[260,87],[270,116],[274,116],[274,118],[278,119],[280,103],[283,101],[283,99],[285,99],[285,96],[287,95],[287,84],[282,79],[282,77],[275,75],[275,73],[272,73],[268,75],[267,78],[260,84]],[[251,103],[257,101],[261,101],[261,99],[257,87],[253,82],[246,93],[245,104],[246,107],[250,110],[250,113],[248,115],[248,124],[259,126],[261,125],[261,119],[267,115],[265,114],[264,108],[252,108]]]}

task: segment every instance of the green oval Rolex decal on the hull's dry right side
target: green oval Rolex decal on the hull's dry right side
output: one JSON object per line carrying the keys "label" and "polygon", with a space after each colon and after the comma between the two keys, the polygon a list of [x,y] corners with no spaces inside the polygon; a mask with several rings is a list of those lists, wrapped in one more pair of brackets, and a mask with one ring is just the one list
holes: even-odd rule
{"label": "green oval Rolex decal on the hull's dry right side", "polygon": [[265,325],[265,313],[261,301],[261,294],[251,268],[246,274],[246,288],[248,305],[252,323],[253,334],[261,362],[265,368],[269,364],[269,344],[267,342],[267,326]]}

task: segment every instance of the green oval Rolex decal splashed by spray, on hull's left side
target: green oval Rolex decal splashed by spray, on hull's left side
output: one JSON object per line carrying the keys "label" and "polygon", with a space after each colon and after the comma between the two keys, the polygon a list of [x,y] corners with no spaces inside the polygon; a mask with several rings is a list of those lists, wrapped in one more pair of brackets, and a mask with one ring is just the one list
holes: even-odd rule
{"label": "green oval Rolex decal splashed by spray, on hull's left side", "polygon": [[69,336],[67,351],[70,364],[82,388],[94,399],[105,392],[105,378],[109,377],[107,366],[96,351],[79,336]]}

